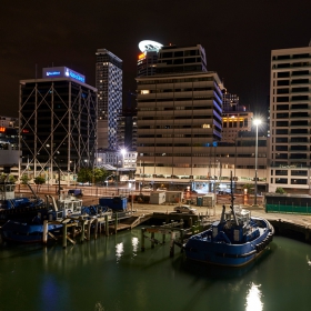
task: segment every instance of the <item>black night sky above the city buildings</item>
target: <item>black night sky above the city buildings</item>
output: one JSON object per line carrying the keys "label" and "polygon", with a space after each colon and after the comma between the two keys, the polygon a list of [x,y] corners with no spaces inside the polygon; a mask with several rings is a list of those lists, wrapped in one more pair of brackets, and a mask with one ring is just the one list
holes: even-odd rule
{"label": "black night sky above the city buildings", "polygon": [[141,40],[205,49],[208,70],[254,112],[268,108],[270,53],[307,47],[310,0],[1,0],[0,116],[18,117],[19,80],[66,66],[94,87],[96,51],[123,60],[136,90]]}

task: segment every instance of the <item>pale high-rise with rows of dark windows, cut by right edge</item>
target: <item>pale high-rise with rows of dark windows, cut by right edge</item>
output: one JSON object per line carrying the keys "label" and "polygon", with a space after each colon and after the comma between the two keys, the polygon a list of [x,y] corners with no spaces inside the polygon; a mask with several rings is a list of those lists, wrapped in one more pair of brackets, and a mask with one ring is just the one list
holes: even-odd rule
{"label": "pale high-rise with rows of dark windows, cut by right edge", "polygon": [[309,189],[311,47],[271,51],[270,190]]}

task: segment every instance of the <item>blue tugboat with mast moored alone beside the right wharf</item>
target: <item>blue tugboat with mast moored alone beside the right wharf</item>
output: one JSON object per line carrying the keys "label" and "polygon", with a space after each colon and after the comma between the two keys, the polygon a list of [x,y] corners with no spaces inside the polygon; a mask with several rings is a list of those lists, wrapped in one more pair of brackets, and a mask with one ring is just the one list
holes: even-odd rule
{"label": "blue tugboat with mast moored alone beside the right wharf", "polygon": [[271,223],[234,205],[231,179],[230,211],[223,205],[221,219],[192,235],[183,245],[187,259],[225,267],[241,267],[260,255],[272,241]]}

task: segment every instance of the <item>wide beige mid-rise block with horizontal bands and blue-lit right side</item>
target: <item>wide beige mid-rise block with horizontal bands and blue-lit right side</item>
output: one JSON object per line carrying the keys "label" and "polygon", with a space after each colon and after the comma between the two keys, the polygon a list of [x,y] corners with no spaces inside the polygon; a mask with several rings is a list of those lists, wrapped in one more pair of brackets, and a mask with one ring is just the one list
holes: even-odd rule
{"label": "wide beige mid-rise block with horizontal bands and blue-lit right side", "polygon": [[170,46],[159,51],[157,74],[137,78],[140,173],[203,173],[222,123],[222,83],[205,68],[200,44]]}

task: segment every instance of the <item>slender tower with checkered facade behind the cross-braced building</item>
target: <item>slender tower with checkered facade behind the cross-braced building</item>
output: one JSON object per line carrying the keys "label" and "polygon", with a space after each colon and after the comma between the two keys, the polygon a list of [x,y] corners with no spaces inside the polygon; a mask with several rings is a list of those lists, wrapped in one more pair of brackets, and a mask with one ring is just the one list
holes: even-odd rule
{"label": "slender tower with checkered facade behind the cross-braced building", "polygon": [[97,50],[98,148],[118,150],[122,110],[122,60],[106,49]]}

